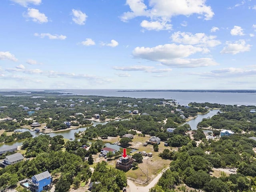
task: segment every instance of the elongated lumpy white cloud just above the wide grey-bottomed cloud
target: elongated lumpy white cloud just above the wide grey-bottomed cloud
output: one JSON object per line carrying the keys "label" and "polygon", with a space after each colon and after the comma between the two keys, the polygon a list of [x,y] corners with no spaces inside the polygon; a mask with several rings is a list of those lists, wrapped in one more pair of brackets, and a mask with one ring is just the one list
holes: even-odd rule
{"label": "elongated lumpy white cloud just above the wide grey-bottomed cloud", "polygon": [[204,47],[215,47],[221,42],[216,40],[216,36],[207,36],[204,33],[188,33],[188,32],[175,32],[171,36],[172,41],[176,43],[188,44],[188,45],[198,45]]}

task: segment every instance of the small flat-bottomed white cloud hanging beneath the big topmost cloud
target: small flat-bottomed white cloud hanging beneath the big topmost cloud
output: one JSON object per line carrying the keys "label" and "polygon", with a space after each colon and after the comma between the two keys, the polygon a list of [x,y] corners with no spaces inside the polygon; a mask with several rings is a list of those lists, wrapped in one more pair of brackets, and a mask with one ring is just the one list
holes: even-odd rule
{"label": "small flat-bottomed white cloud hanging beneath the big topmost cloud", "polygon": [[167,24],[167,22],[159,22],[159,21],[147,21],[147,20],[143,20],[140,24],[140,26],[142,26],[143,28],[147,29],[147,30],[171,30],[172,29],[172,25],[171,24]]}

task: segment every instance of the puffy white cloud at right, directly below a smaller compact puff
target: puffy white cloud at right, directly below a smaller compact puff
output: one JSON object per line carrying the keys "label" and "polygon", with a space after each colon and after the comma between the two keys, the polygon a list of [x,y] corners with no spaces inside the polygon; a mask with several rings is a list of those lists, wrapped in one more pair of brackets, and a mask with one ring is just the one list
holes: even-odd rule
{"label": "puffy white cloud at right, directly below a smaller compact puff", "polygon": [[222,49],[220,53],[222,54],[238,54],[241,52],[250,51],[250,44],[246,44],[245,40],[238,40],[234,43],[231,43],[229,41],[226,42],[226,47]]}

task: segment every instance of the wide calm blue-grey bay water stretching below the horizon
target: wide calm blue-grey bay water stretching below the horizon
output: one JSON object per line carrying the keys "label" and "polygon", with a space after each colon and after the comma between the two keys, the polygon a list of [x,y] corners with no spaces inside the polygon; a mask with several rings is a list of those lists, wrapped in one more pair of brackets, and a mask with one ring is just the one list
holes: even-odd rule
{"label": "wide calm blue-grey bay water stretching below the horizon", "polygon": [[219,92],[118,92],[118,90],[64,90],[79,95],[116,96],[131,98],[175,99],[180,105],[190,102],[209,102],[225,105],[254,105],[256,94],[253,93],[219,93]]}

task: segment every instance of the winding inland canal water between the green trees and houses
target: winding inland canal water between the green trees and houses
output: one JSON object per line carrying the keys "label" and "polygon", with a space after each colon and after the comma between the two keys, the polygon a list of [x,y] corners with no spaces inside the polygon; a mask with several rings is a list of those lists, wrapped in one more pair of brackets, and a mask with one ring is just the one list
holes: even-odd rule
{"label": "winding inland canal water between the green trees and houses", "polygon": [[[203,114],[203,115],[198,115],[197,118],[194,118],[186,123],[180,124],[180,126],[184,125],[184,124],[189,124],[192,128],[192,130],[197,129],[196,126],[197,124],[202,121],[203,118],[208,118],[208,117],[212,117],[215,114],[217,114],[219,112],[219,110],[210,110],[209,113],[207,114]],[[118,120],[117,120],[118,121]],[[96,126],[97,124],[107,124],[108,122],[94,122],[93,121],[93,126]],[[67,130],[67,131],[63,131],[63,132],[56,132],[56,133],[50,133],[49,135],[51,137],[56,136],[56,135],[62,135],[65,139],[75,139],[74,137],[74,133],[75,132],[79,132],[79,131],[85,131],[87,127],[82,127],[82,128],[78,128],[78,129],[73,129],[73,130]],[[23,129],[24,131],[28,131],[26,129]],[[204,130],[204,132],[210,132],[209,130]],[[30,131],[30,133],[33,135],[33,137],[39,136],[40,134],[44,134],[44,133],[36,133],[34,131]],[[10,142],[10,143],[4,143],[4,144],[0,144],[0,149],[6,146],[19,146],[22,145],[24,140],[18,140],[15,142]],[[110,144],[110,143],[106,143],[107,147],[110,148],[114,148],[116,150],[122,150],[122,147],[118,146],[117,144]]]}

